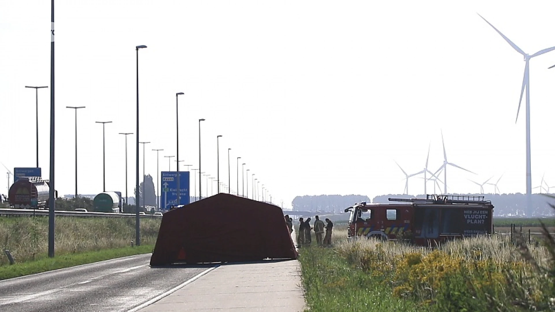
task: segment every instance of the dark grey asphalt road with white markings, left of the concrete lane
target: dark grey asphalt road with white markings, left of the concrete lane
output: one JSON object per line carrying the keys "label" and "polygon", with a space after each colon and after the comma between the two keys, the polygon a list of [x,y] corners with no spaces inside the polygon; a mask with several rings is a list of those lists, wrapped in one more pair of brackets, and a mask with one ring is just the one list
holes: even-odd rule
{"label": "dark grey asphalt road with white markings, left of the concrete lane", "polygon": [[210,268],[150,268],[150,255],[0,281],[0,311],[128,311]]}

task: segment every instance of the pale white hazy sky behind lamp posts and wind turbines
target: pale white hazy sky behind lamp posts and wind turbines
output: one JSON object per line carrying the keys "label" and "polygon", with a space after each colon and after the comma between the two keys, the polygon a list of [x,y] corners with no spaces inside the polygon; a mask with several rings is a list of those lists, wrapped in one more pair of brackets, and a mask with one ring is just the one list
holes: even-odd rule
{"label": "pale white hazy sky behind lamp posts and wind turbines", "polygon": [[[50,1],[0,0],[0,161],[34,167],[35,93],[50,85]],[[124,136],[135,132],[135,46],[140,140],[148,174],[175,155],[236,189],[236,157],[276,203],[296,195],[402,193],[404,175],[447,159],[450,193],[478,192],[504,173],[502,193],[526,192],[524,104],[515,124],[523,51],[555,46],[555,5],[527,1],[56,1],[56,189],[74,192],[74,111],[79,193],[124,192]],[[530,62],[532,186],[555,186],[552,138],[555,51]],[[48,177],[49,89],[39,90],[39,165]],[[129,193],[135,185],[129,137]],[[141,170],[142,170],[141,149]],[[175,158],[173,158],[175,159]],[[175,169],[175,165],[172,166]],[[181,170],[184,170],[183,167]],[[2,170],[4,170],[2,168]],[[4,178],[6,175],[2,175]],[[443,177],[441,177],[443,179]],[[191,180],[192,183],[192,180]],[[197,179],[198,185],[198,179]],[[203,188],[206,186],[203,182]],[[249,175],[249,193],[251,177]],[[0,182],[7,193],[7,180]],[[241,187],[240,187],[241,188]],[[192,189],[192,185],[191,185]],[[198,186],[196,187],[198,192]],[[493,192],[486,185],[486,192]],[[204,193],[204,190],[203,190]],[[410,180],[409,193],[423,193]],[[428,193],[433,185],[428,184]]]}

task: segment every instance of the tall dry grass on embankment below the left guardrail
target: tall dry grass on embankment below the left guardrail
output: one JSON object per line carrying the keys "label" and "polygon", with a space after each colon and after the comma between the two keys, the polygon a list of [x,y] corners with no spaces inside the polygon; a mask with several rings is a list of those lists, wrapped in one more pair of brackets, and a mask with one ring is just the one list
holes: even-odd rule
{"label": "tall dry grass on embankment below the left guardrail", "polygon": [[[142,245],[154,245],[160,219],[142,219]],[[134,218],[57,217],[56,256],[87,251],[123,248],[135,240]],[[9,250],[16,263],[48,258],[48,217],[0,217],[0,244]],[[4,253],[0,268],[8,265]]]}

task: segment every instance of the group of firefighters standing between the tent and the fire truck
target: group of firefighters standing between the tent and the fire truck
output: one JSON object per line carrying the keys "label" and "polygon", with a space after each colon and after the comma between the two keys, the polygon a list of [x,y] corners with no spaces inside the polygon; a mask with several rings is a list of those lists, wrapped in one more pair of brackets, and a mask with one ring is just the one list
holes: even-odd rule
{"label": "group of firefighters standing between the tent and the fire truck", "polygon": [[[334,228],[334,223],[331,222],[330,219],[326,218],[326,223],[316,215],[314,217],[316,221],[314,224],[310,224],[310,218],[299,218],[299,233],[297,233],[297,244],[301,245],[310,245],[312,243],[312,230],[314,230],[314,234],[316,235],[316,243],[319,246],[331,246],[331,232]],[[285,223],[287,224],[287,228],[289,228],[289,233],[293,232],[293,219],[289,218],[289,215],[285,215]],[[324,229],[326,235],[324,236]]]}

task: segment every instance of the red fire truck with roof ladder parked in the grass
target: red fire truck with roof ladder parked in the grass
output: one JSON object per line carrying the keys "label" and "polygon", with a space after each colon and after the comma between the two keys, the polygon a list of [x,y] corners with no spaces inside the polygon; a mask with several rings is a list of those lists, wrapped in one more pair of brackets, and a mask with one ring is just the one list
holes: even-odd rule
{"label": "red fire truck with roof ladder parked in the grass", "polygon": [[443,241],[493,232],[493,205],[483,196],[426,195],[426,198],[389,198],[397,204],[357,203],[347,236],[408,240],[435,246]]}

